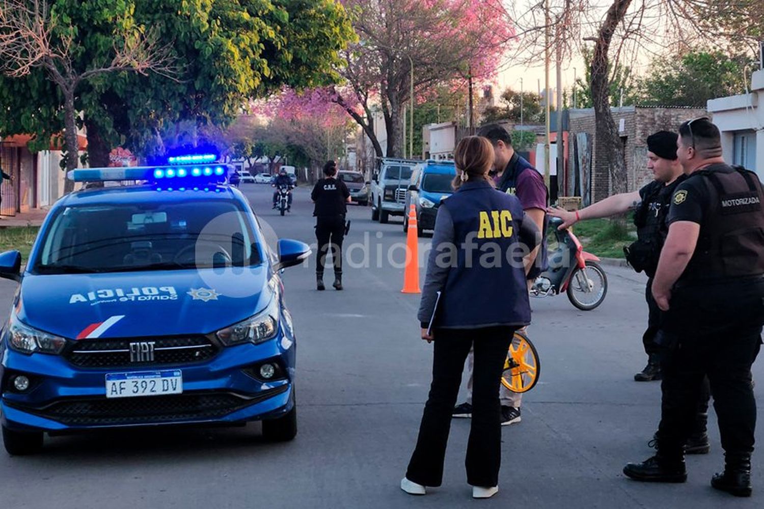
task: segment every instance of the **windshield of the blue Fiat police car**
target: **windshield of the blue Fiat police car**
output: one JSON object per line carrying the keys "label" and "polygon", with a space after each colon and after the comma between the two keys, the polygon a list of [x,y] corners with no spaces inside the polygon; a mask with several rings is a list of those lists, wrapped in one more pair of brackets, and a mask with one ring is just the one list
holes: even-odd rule
{"label": "windshield of the blue Fiat police car", "polygon": [[260,249],[235,201],[66,207],[41,239],[40,274],[255,266]]}

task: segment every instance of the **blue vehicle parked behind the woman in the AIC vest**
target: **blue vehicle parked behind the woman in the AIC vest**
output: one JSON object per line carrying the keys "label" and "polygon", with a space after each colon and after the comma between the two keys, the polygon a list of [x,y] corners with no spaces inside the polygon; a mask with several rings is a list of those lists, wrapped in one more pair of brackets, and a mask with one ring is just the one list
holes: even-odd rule
{"label": "blue vehicle parked behind the woman in the AIC vest", "polygon": [[[414,167],[406,190],[406,211],[410,205],[416,208],[416,233],[422,237],[424,230],[435,228],[435,216],[443,198],[454,192],[451,182],[456,176],[453,161],[429,159]],[[408,230],[408,215],[403,216],[403,231]]]}

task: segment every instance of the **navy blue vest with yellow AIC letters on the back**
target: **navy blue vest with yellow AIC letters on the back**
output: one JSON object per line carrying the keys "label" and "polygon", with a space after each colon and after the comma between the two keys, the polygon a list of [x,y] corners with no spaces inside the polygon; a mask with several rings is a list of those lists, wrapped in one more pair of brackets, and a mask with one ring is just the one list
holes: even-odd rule
{"label": "navy blue vest with yellow AIC letters on the back", "polygon": [[520,224],[523,207],[488,182],[466,182],[441,206],[454,222],[451,262],[438,326],[477,328],[530,323]]}

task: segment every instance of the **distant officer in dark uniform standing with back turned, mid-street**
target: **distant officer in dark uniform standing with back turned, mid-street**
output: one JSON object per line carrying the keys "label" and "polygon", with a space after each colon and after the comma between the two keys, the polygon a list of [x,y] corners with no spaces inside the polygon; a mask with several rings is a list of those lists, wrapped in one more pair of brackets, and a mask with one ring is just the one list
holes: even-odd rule
{"label": "distant officer in dark uniform standing with back turned, mid-street", "polygon": [[316,240],[319,250],[316,256],[316,288],[324,287],[324,263],[329,248],[332,249],[335,282],[332,286],[342,290],[342,240],[345,230],[345,214],[350,203],[350,191],[345,182],[337,178],[337,163],[327,161],[324,165],[324,179],[316,182],[310,193],[310,199],[316,204],[313,215],[316,216]]}

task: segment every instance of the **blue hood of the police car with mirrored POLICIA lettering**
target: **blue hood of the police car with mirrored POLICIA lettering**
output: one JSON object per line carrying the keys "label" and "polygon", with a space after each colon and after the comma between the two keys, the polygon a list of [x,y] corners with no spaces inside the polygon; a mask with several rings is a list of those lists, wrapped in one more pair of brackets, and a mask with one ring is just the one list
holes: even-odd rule
{"label": "blue hood of the police car with mirrored POLICIA lettering", "polygon": [[265,308],[277,279],[267,266],[25,275],[15,312],[68,338],[210,333]]}

